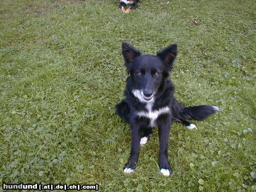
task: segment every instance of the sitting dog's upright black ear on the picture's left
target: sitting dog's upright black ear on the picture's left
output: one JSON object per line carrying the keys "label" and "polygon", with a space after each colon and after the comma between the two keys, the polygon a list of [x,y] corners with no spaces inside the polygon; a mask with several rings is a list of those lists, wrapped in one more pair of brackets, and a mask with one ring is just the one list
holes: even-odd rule
{"label": "sitting dog's upright black ear on the picture's left", "polygon": [[133,45],[123,42],[122,43],[122,54],[123,54],[123,59],[125,60],[125,66],[128,70],[130,71],[131,64],[133,63],[134,59],[136,57],[141,56],[141,51],[139,49],[133,47]]}

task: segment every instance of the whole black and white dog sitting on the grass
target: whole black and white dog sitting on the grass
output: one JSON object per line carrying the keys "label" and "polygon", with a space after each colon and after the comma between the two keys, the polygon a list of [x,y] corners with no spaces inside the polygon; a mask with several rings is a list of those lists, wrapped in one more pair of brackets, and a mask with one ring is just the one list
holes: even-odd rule
{"label": "whole black and white dog sitting on the grass", "polygon": [[177,56],[176,44],[171,44],[153,56],[142,55],[137,48],[123,43],[122,55],[129,77],[126,98],[116,108],[118,115],[131,126],[131,154],[124,172],[134,172],[139,145],[146,144],[152,128],[158,127],[159,169],[164,176],[170,176],[167,152],[171,122],[182,123],[192,130],[196,126],[187,119],[203,120],[220,108],[210,105],[185,107],[174,98],[174,86],[169,76]]}

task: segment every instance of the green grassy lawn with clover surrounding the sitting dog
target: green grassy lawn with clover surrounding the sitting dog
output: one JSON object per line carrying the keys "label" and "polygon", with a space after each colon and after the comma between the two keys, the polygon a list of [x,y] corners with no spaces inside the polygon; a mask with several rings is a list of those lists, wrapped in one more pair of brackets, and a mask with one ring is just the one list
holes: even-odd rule
{"label": "green grassy lawn with clover surrounding the sitting dog", "polygon": [[[101,191],[255,191],[255,1],[0,1],[0,183],[81,183]],[[169,3],[168,3],[169,2]],[[197,24],[191,24],[191,20]],[[123,174],[122,41],[155,54],[177,43],[171,78],[185,105],[222,108],[198,130],[172,124],[171,176],[158,132]],[[0,191],[1,191],[0,186]]]}

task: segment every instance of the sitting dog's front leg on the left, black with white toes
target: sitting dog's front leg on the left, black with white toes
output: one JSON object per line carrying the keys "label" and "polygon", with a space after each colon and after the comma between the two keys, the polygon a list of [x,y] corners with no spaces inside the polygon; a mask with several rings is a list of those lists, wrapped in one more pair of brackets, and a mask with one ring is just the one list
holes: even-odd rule
{"label": "sitting dog's front leg on the left, black with white toes", "polygon": [[133,173],[139,157],[139,141],[141,139],[141,127],[138,123],[131,124],[131,155],[123,172]]}

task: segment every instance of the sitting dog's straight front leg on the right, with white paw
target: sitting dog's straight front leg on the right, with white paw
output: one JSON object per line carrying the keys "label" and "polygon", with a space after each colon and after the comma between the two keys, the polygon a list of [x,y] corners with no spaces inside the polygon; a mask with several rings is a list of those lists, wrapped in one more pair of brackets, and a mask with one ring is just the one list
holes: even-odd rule
{"label": "sitting dog's straight front leg on the right, with white paw", "polygon": [[165,116],[158,120],[159,132],[159,169],[163,176],[170,176],[171,167],[168,162],[168,141],[171,131],[171,117]]}

